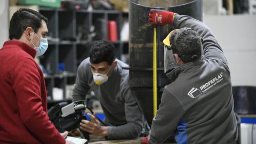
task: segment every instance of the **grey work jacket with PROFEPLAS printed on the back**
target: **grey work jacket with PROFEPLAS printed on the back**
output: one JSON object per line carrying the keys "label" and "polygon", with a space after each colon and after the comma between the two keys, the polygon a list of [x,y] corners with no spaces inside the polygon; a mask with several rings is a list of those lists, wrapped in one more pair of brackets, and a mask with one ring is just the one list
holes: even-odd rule
{"label": "grey work jacket with PROFEPLAS printed on the back", "polygon": [[230,71],[220,45],[203,22],[187,15],[176,14],[173,25],[197,31],[204,55],[167,75],[174,82],[165,86],[149,142],[174,135],[178,143],[236,143]]}

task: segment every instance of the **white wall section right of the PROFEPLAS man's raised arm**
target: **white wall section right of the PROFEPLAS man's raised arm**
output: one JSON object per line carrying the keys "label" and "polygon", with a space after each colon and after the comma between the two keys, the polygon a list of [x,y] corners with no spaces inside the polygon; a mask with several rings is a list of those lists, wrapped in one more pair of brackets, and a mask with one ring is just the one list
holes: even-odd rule
{"label": "white wall section right of the PROFEPLAS man's raised arm", "polygon": [[233,85],[256,86],[256,15],[204,15],[222,47]]}

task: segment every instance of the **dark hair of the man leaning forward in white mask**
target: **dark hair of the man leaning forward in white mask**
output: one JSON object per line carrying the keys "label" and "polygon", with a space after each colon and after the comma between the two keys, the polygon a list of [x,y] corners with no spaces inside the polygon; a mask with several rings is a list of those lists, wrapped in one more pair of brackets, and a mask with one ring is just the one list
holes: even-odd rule
{"label": "dark hair of the man leaning forward in white mask", "polygon": [[107,61],[111,65],[116,58],[115,46],[113,43],[100,40],[91,46],[90,62],[98,64]]}

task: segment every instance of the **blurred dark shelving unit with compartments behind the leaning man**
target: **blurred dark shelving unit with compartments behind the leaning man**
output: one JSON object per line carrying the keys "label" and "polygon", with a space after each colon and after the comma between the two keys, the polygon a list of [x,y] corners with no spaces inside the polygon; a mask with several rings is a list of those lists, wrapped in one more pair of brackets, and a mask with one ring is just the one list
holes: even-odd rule
{"label": "blurred dark shelving unit with compartments behind the leaning man", "polygon": [[49,19],[49,48],[39,57],[39,62],[45,74],[50,105],[71,99],[77,68],[89,57],[93,42],[100,39],[113,42],[116,58],[128,62],[128,42],[121,41],[123,23],[128,21],[127,13],[48,7],[39,7],[39,12]]}

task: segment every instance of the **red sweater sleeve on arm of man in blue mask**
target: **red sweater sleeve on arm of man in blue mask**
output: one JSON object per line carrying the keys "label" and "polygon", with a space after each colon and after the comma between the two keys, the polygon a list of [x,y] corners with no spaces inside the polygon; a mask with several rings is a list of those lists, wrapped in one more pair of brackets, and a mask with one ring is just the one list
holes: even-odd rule
{"label": "red sweater sleeve on arm of man in blue mask", "polygon": [[18,113],[27,130],[43,143],[65,143],[44,110],[42,99],[46,99],[46,95],[41,95],[43,83],[34,61],[20,60],[13,73],[13,90],[17,97]]}

